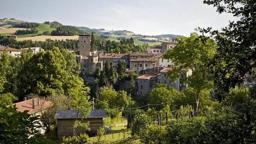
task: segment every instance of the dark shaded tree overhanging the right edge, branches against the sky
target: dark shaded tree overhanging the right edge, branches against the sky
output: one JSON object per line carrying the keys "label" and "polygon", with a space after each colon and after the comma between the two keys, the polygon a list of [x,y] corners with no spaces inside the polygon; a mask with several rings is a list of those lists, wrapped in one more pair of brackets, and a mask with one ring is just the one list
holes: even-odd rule
{"label": "dark shaded tree overhanging the right edge, branches against the sky", "polygon": [[217,54],[212,60],[216,98],[225,98],[225,92],[242,82],[248,72],[254,74],[256,68],[255,12],[253,0],[204,0],[204,4],[216,7],[219,14],[232,13],[237,21],[230,21],[221,30],[199,29],[210,32],[218,45]]}

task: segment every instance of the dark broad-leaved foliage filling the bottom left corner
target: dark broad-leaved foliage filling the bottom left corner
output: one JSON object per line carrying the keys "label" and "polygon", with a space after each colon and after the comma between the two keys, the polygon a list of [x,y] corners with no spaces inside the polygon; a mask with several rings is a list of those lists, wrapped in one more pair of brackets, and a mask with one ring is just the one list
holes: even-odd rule
{"label": "dark broad-leaved foliage filling the bottom left corner", "polygon": [[50,143],[48,139],[38,138],[39,116],[27,114],[28,110],[18,112],[16,106],[0,105],[0,143],[1,144],[36,144]]}

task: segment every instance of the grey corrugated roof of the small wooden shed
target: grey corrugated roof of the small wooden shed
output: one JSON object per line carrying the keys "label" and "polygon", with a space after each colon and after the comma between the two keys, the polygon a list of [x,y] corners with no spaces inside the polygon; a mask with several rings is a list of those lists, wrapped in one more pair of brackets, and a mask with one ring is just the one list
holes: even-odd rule
{"label": "grey corrugated roof of the small wooden shed", "polygon": [[[106,117],[105,110],[91,110],[87,118],[104,118]],[[81,118],[78,110],[57,110],[54,119],[73,119]]]}

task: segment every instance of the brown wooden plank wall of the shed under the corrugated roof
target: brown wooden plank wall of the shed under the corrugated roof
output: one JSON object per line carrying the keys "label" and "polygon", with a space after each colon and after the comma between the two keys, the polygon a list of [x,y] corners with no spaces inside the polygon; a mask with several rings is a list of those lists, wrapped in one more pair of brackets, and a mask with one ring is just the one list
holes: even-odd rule
{"label": "brown wooden plank wall of the shed under the corrugated roof", "polygon": [[[75,119],[58,119],[57,120],[57,128],[58,128],[58,138],[62,138],[63,136],[73,136],[73,128]],[[91,131],[97,130],[100,126],[103,126],[103,119],[102,118],[90,118],[90,119],[83,119],[83,122],[90,121],[90,128]],[[76,134],[79,135],[81,132],[86,132],[84,128],[78,127],[75,129]]]}

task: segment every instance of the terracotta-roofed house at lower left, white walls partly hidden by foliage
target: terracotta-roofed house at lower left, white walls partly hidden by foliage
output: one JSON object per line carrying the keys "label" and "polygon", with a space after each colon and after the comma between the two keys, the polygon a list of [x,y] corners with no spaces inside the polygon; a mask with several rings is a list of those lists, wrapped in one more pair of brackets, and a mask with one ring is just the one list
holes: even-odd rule
{"label": "terracotta-roofed house at lower left, white walls partly hidden by foliage", "polygon": [[[12,105],[16,105],[18,112],[24,112],[28,110],[28,114],[32,114],[33,116],[42,116],[42,113],[52,106],[52,102],[48,100],[42,100],[39,98],[32,98],[30,100],[26,100],[26,97],[22,102],[14,103]],[[44,126],[41,121],[39,121],[41,126]],[[40,134],[45,133],[45,128],[37,128]]]}

